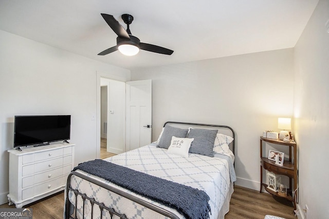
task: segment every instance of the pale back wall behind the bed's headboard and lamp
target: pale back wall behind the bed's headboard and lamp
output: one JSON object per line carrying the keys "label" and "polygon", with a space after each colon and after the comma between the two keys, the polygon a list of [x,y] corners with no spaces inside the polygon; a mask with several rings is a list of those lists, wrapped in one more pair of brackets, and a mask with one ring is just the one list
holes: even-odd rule
{"label": "pale back wall behind the bed's headboard and lamp", "polygon": [[152,79],[152,139],[170,120],[229,125],[236,132],[236,184],[259,190],[262,131],[293,115],[293,51],[132,70],[132,80]]}

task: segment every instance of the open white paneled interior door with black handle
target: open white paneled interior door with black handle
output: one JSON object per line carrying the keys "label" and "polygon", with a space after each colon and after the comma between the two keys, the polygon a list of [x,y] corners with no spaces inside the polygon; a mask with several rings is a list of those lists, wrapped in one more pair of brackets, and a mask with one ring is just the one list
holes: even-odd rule
{"label": "open white paneled interior door with black handle", "polygon": [[126,82],[126,151],[152,141],[152,81]]}

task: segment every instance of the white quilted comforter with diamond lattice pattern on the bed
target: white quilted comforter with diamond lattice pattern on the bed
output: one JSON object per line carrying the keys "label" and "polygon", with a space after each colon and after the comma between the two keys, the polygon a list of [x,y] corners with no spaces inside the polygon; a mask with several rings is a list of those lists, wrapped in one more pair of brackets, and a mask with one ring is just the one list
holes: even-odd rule
{"label": "white quilted comforter with diamond lattice pattern on the bed", "polygon": [[[167,149],[156,148],[154,144],[150,144],[133,151],[109,157],[105,160],[136,171],[204,190],[210,197],[209,204],[212,213],[210,218],[217,218],[218,213],[223,206],[224,199],[229,193],[229,187],[231,184],[229,164],[228,161],[223,158],[208,157],[191,153],[188,158],[185,158],[178,155],[167,154]],[[106,184],[113,185],[111,182],[105,181],[99,177],[90,174],[86,175],[97,178]],[[96,187],[94,184],[76,176],[74,176],[71,181],[72,188],[79,189],[89,196],[94,196],[98,202],[103,202],[106,206],[114,208],[117,212],[124,213],[128,218],[165,218],[165,216],[159,215],[158,213],[138,205],[131,200],[123,198],[122,196],[118,196],[115,193]],[[120,188],[116,185],[114,186]],[[120,189],[134,194],[126,189]],[[148,200],[138,194],[134,195]],[[70,192],[69,196],[71,202],[72,200],[75,200],[74,193]],[[174,212],[180,218],[184,218],[174,209],[154,203],[152,200],[149,200],[149,202]],[[77,206],[82,205],[81,203],[82,200],[78,201]],[[82,206],[78,209],[82,212]],[[90,212],[90,205],[86,203],[85,214],[90,214]],[[110,218],[108,215],[105,215],[105,213],[103,214],[105,216],[103,216],[103,218]],[[99,211],[94,210],[93,218],[100,218],[99,216]]]}

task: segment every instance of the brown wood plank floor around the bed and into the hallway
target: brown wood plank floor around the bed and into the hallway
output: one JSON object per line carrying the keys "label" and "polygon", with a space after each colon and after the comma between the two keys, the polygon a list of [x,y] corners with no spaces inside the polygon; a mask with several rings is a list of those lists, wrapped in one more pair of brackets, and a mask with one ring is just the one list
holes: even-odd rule
{"label": "brown wood plank floor around the bed and into the hallway", "polygon": [[[105,139],[106,140],[106,139]],[[103,143],[104,141],[103,139]],[[102,141],[101,141],[102,144]],[[115,154],[106,152],[106,147],[101,147],[101,159],[111,157]],[[64,212],[64,192],[54,194],[39,202],[31,203],[26,208],[32,208],[33,219],[60,219]],[[15,208],[14,205],[0,205],[0,208]],[[263,219],[266,214],[292,219],[294,217],[294,207],[291,202],[275,197],[267,193],[234,186],[230,202],[230,211],[225,215],[225,219],[250,218]]]}

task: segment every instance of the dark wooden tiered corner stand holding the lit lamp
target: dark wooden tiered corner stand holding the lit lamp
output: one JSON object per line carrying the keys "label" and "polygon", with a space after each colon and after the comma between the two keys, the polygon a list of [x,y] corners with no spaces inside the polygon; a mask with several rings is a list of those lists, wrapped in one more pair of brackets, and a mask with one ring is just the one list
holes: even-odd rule
{"label": "dark wooden tiered corner stand holding the lit lamp", "polygon": [[[283,145],[283,147],[289,147],[289,159],[284,160],[283,166],[279,166],[275,164],[275,161],[269,160],[267,157],[263,157],[263,141],[273,143],[273,144],[279,144]],[[294,149],[294,151],[293,151]],[[294,190],[297,188],[297,144],[295,141],[290,142],[284,142],[279,139],[270,139],[270,138],[264,138],[261,136],[260,140],[260,151],[261,151],[261,189],[260,192],[262,192],[262,186],[264,186],[265,190],[272,194],[279,197],[282,197],[278,195],[278,192],[274,192],[267,188],[267,184],[263,183],[263,169],[273,172],[275,174],[285,175],[289,177],[289,188],[287,189],[287,196],[282,197],[290,200],[294,204],[294,208],[296,210],[296,202],[294,197]],[[293,154],[294,153],[294,154]],[[294,157],[294,160],[292,159]],[[293,190],[293,181],[294,181],[294,190]],[[297,191],[296,191],[297,196]]]}

